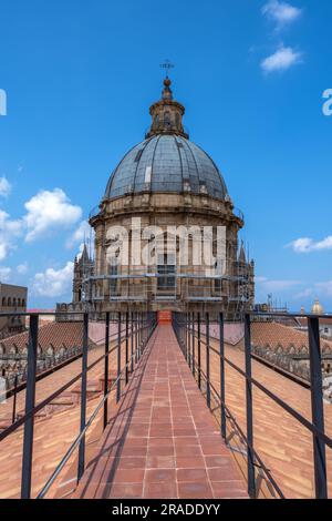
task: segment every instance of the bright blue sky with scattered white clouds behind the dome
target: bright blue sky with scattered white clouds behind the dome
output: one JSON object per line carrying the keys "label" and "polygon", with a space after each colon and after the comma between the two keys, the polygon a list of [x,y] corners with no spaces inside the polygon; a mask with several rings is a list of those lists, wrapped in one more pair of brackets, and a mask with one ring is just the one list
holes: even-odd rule
{"label": "bright blue sky with scattered white clouds behind the dome", "polygon": [[332,310],[331,20],[330,0],[3,1],[0,279],[33,307],[70,300],[82,222],[169,58],[190,139],[245,213],[257,299]]}

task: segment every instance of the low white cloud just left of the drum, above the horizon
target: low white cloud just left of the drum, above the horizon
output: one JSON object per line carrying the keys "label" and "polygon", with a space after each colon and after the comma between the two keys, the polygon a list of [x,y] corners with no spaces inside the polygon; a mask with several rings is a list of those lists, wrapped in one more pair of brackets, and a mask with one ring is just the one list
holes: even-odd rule
{"label": "low white cloud just left of the drum, above the horizon", "polygon": [[42,297],[60,297],[66,295],[72,287],[74,263],[66,263],[63,268],[48,268],[34,275],[32,290]]}

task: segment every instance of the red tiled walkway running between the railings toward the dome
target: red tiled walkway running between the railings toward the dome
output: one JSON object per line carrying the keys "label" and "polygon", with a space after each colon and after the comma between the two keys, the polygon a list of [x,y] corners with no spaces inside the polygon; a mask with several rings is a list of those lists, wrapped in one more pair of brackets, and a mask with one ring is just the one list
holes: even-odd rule
{"label": "red tiled walkway running between the railings toward the dome", "polygon": [[247,497],[172,326],[155,331],[73,497]]}

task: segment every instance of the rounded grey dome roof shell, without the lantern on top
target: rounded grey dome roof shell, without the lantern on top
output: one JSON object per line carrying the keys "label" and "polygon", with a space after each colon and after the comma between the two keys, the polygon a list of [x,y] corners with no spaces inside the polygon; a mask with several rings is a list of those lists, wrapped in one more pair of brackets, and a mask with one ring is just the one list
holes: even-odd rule
{"label": "rounded grey dome roof shell, without the lantern on top", "polygon": [[225,181],[206,152],[180,135],[153,135],[134,146],[112,173],[105,198],[139,192],[207,193],[224,200]]}

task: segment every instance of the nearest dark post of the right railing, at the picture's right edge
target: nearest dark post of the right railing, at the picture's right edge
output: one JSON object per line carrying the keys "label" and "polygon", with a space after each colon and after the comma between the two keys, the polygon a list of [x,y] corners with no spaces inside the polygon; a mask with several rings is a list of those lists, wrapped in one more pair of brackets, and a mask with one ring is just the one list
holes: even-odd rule
{"label": "nearest dark post of the right railing, at the picture's right edge", "polygon": [[[311,411],[312,422],[324,432],[324,405],[322,389],[322,359],[320,346],[320,321],[318,317],[308,318]],[[325,443],[313,433],[314,484],[317,499],[328,498]]]}

